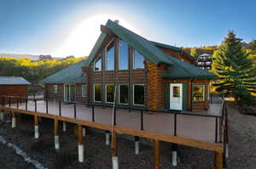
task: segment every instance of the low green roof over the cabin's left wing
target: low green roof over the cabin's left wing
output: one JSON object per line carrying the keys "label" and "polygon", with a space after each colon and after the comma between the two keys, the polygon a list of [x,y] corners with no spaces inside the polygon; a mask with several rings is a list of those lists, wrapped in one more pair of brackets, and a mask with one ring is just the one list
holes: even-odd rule
{"label": "low green roof over the cabin's left wing", "polygon": [[86,77],[81,69],[82,66],[88,66],[87,60],[79,61],[67,68],[58,71],[52,76],[46,77],[42,83],[81,83],[86,81]]}

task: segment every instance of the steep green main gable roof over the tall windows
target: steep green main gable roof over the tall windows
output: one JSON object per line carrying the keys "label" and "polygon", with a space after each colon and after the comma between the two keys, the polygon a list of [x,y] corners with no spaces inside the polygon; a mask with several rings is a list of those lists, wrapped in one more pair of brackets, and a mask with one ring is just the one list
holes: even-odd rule
{"label": "steep green main gable roof over the tall windows", "polygon": [[[157,48],[154,45],[154,43],[148,41],[144,37],[141,37],[136,33],[127,30],[125,27],[113,22],[112,20],[108,20],[105,26],[108,27],[108,29],[110,29],[111,31],[113,31],[113,33],[117,35],[119,38],[123,39],[125,42],[131,45],[132,48],[135,48],[138,53],[143,54],[143,56],[146,59],[153,62],[154,64],[173,64],[172,61],[168,59],[168,54],[161,51],[160,48]],[[98,38],[96,42],[96,45],[94,46],[89,55],[90,63],[95,58],[96,51],[100,48],[105,37],[106,34],[102,32],[101,36]]]}

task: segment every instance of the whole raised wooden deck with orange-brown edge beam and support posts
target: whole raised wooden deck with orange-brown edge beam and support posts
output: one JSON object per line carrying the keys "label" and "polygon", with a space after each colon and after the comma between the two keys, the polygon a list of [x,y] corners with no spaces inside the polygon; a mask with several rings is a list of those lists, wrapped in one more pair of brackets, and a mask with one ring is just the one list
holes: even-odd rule
{"label": "whole raised wooden deck with orange-brown edge beam and support posts", "polygon": [[[221,127],[221,130],[219,130],[220,120],[223,121],[223,119],[219,118],[219,116],[211,115],[219,115],[219,112],[224,110],[223,108],[224,104],[212,104],[208,111],[193,112],[195,114],[187,111],[178,114],[172,114],[170,112],[143,112],[142,114],[139,110],[128,111],[125,109],[117,109],[116,123],[114,126],[111,125],[113,109],[99,106],[94,106],[94,109],[92,109],[92,107],[87,107],[85,104],[60,104],[60,102],[55,101],[46,102],[44,100],[37,100],[36,102],[28,101],[27,103],[5,104],[0,106],[0,112],[5,111],[11,113],[12,127],[15,124],[15,115],[20,113],[33,115],[35,127],[38,127],[38,116],[53,119],[55,121],[55,137],[59,137],[59,121],[77,124],[79,128],[79,146],[83,144],[82,126],[111,131],[113,158],[117,157],[117,132],[153,139],[154,169],[160,168],[160,141],[211,150],[215,153],[215,168],[221,169],[224,164],[223,155],[225,153],[225,144],[219,143],[219,137],[223,139],[224,136],[227,136],[228,132],[224,130],[224,133],[226,133],[224,136],[223,133],[219,133],[227,127]],[[177,116],[177,118],[175,118],[175,116]],[[143,122],[141,121],[142,119]],[[224,139],[224,143],[225,140],[226,139]],[[55,147],[55,149],[57,149],[57,147]],[[79,158],[84,156],[82,155],[84,154],[83,152],[84,151],[79,151]],[[84,160],[81,160],[81,162],[82,161]]]}

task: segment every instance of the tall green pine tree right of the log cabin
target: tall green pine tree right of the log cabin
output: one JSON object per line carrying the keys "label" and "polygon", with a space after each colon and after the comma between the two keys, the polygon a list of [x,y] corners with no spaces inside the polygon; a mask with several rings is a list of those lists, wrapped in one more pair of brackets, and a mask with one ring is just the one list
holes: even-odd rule
{"label": "tall green pine tree right of the log cabin", "polygon": [[213,86],[225,96],[234,97],[236,102],[248,103],[253,99],[252,93],[256,93],[255,68],[248,55],[241,39],[230,31],[213,56],[213,71],[218,75],[218,82]]}

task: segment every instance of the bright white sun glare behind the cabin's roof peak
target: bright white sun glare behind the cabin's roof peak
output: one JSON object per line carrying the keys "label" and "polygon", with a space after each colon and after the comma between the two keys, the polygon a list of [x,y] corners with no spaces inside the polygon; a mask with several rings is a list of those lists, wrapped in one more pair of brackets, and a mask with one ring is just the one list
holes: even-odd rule
{"label": "bright white sun glare behind the cabin's roof peak", "polygon": [[119,24],[125,26],[133,31],[135,28],[131,23],[122,17],[112,14],[94,15],[80,21],[80,23],[73,28],[67,40],[60,44],[59,48],[54,52],[55,57],[66,57],[73,55],[81,57],[90,54],[97,38],[101,34],[100,25],[105,25],[110,20],[119,20]]}

